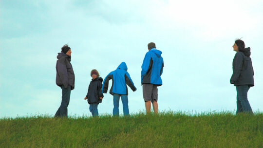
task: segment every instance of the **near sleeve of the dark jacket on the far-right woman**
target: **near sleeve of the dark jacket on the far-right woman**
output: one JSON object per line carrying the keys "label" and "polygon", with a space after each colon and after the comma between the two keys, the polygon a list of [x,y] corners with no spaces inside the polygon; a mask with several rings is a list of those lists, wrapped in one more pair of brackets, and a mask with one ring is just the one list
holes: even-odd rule
{"label": "near sleeve of the dark jacket on the far-right woman", "polygon": [[244,57],[242,53],[239,53],[239,52],[236,53],[235,58],[234,58],[235,61],[233,65],[233,74],[230,79],[231,84],[234,84],[240,76],[242,66],[243,66],[243,58]]}

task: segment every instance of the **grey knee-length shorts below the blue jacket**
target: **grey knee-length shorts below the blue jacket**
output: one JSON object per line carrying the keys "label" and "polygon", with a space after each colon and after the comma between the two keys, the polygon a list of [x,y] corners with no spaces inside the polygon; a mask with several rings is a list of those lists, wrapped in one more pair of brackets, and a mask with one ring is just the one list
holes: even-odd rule
{"label": "grey knee-length shorts below the blue jacket", "polygon": [[143,84],[143,99],[144,102],[158,101],[158,89],[157,85],[154,84]]}

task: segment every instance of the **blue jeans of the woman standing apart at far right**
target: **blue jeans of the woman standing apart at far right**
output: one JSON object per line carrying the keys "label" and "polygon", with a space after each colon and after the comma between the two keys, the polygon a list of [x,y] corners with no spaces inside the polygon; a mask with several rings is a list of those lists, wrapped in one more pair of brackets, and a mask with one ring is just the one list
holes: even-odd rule
{"label": "blue jeans of the woman standing apart at far right", "polygon": [[236,86],[237,89],[237,113],[240,112],[249,112],[253,113],[250,107],[250,104],[247,100],[247,92],[250,86],[248,85],[239,85]]}

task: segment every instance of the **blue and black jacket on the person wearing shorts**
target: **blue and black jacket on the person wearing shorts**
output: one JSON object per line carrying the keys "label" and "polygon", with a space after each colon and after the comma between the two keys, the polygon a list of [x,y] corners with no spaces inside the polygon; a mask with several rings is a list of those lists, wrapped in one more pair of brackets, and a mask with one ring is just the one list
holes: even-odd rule
{"label": "blue and black jacket on the person wearing shorts", "polygon": [[163,84],[161,75],[163,74],[164,59],[162,52],[152,48],[146,53],[141,72],[142,84],[155,84],[161,86]]}

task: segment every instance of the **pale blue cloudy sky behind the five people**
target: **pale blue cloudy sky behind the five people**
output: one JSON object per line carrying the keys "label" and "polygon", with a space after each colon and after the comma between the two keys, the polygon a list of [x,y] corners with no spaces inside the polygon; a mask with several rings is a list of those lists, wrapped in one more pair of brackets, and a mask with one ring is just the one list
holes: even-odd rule
{"label": "pale blue cloudy sky behind the five people", "polygon": [[[255,72],[248,100],[262,112],[262,8],[262,0],[0,0],[0,118],[56,113],[56,56],[64,44],[75,72],[70,116],[91,116],[84,100],[91,70],[105,78],[121,62],[137,88],[129,88],[130,113],[145,111],[140,78],[149,42],[164,58],[159,111],[236,111],[229,80],[241,37]],[[98,111],[112,114],[109,92]]]}

